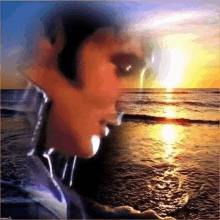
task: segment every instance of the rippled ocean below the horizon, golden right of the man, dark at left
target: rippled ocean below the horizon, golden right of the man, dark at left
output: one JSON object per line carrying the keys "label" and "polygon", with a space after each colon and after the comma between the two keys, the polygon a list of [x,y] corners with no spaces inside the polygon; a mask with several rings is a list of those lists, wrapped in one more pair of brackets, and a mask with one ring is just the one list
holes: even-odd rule
{"label": "rippled ocean below the horizon, golden right of the man, dark at left", "polygon": [[[28,148],[38,101],[29,93],[17,105],[24,94],[1,93],[2,163]],[[122,124],[110,128],[94,158],[77,160],[73,187],[111,207],[219,219],[219,94],[219,89],[127,90],[119,100]]]}

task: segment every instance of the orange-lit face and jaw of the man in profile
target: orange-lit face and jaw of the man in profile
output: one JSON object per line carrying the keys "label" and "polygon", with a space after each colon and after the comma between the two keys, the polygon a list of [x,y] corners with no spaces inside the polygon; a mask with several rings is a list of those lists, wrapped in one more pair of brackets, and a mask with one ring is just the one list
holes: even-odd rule
{"label": "orange-lit face and jaw of the man in profile", "polygon": [[132,70],[143,66],[141,58],[138,43],[112,32],[99,32],[78,53],[80,88],[62,83],[65,80],[60,74],[57,80],[53,78],[53,85],[44,80],[42,84],[53,101],[47,147],[67,155],[93,156],[108,133],[107,126],[119,122],[116,103],[120,86]]}

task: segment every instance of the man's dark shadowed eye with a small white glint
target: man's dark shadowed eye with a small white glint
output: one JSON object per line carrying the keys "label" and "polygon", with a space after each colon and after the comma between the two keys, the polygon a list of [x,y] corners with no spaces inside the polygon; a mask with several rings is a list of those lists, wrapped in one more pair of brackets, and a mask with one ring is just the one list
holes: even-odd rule
{"label": "man's dark shadowed eye with a small white glint", "polygon": [[118,53],[112,56],[111,62],[118,69],[119,77],[131,76],[144,66],[144,61],[135,54]]}

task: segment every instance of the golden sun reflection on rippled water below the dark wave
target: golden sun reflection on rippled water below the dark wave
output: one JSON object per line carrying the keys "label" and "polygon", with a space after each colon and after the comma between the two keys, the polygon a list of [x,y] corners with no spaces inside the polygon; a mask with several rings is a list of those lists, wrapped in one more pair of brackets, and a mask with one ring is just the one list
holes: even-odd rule
{"label": "golden sun reflection on rippled water below the dark wave", "polygon": [[[124,164],[129,161],[129,166],[133,163],[141,170],[143,167],[149,169],[149,173],[143,177],[142,182],[146,183],[146,188],[142,186],[143,192],[156,204],[158,212],[174,212],[187,204],[191,197],[185,188],[186,177],[179,172],[179,158],[184,155],[182,143],[187,137],[186,128],[169,123],[137,122],[132,125],[122,123],[122,133],[117,143],[118,147],[124,147],[120,148],[117,164],[119,161]],[[129,157],[126,157],[128,154]],[[139,178],[142,171],[136,172],[135,169],[128,172]],[[123,172],[121,176],[124,177]]]}

